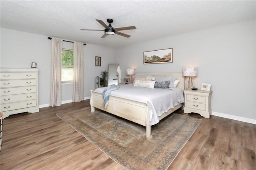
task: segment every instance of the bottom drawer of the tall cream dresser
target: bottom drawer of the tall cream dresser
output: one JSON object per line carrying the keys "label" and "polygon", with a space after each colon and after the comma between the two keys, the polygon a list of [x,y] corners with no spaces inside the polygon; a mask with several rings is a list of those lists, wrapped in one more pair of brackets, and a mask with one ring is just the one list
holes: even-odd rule
{"label": "bottom drawer of the tall cream dresser", "polygon": [[36,100],[22,101],[17,103],[1,104],[0,112],[22,109],[36,106]]}

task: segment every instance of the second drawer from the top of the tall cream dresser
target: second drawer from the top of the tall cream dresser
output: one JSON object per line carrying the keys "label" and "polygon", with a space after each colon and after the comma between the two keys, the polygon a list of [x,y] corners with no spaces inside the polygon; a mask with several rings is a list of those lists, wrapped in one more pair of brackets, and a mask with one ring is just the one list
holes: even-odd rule
{"label": "second drawer from the top of the tall cream dresser", "polygon": [[19,86],[31,86],[31,85],[36,85],[36,79],[1,80],[0,81],[0,88],[19,87]]}

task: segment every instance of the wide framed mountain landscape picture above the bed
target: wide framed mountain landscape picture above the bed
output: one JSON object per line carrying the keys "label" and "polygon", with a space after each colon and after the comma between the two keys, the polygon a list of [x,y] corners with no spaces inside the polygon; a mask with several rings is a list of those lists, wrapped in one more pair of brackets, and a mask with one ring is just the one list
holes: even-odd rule
{"label": "wide framed mountain landscape picture above the bed", "polygon": [[172,63],[172,48],[143,52],[143,64]]}

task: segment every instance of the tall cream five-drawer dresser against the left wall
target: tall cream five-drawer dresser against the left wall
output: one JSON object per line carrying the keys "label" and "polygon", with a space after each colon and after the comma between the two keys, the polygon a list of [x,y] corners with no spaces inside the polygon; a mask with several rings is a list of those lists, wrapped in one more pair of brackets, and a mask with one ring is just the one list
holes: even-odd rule
{"label": "tall cream five-drawer dresser against the left wall", "polygon": [[3,118],[39,112],[38,69],[0,68],[0,106]]}

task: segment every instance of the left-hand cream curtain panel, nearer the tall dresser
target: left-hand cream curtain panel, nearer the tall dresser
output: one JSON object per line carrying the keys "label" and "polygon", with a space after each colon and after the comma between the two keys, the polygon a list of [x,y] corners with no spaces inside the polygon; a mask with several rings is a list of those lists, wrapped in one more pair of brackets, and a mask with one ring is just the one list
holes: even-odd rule
{"label": "left-hand cream curtain panel, nearer the tall dresser", "polygon": [[52,38],[50,106],[61,105],[61,53],[63,40]]}

